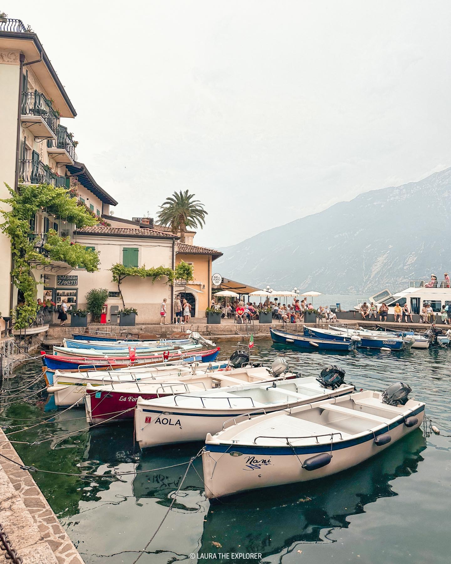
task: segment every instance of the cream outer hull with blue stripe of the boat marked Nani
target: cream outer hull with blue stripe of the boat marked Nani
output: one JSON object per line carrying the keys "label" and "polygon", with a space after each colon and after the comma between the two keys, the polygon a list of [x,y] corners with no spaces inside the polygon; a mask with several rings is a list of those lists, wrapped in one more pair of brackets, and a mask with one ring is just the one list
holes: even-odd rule
{"label": "cream outer hull with blue stripe of the boat marked Nani", "polygon": [[[418,418],[417,424],[407,427],[401,418],[376,433],[390,434],[391,442],[378,446],[371,431],[359,439],[343,440],[329,444],[308,447],[259,447],[230,446],[226,444],[206,444],[202,453],[204,466],[205,495],[217,499],[238,492],[280,486],[297,482],[307,482],[324,478],[352,468],[392,446],[397,440],[417,429],[423,421],[424,405],[412,415]],[[330,464],[316,470],[302,468],[307,459],[321,453],[330,453]]]}

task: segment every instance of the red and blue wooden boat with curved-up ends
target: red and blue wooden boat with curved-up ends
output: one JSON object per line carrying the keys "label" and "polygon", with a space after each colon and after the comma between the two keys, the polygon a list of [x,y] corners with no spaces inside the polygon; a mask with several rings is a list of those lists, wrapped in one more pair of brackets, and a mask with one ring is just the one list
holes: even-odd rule
{"label": "red and blue wooden boat with curved-up ends", "polygon": [[[164,360],[168,362],[184,361],[184,362],[211,362],[215,360],[219,354],[220,347],[215,349],[198,351],[198,352],[169,352],[169,354],[151,354],[151,355],[128,355],[117,356],[116,358],[106,355],[99,356],[63,356],[48,354],[46,351],[41,351],[42,363],[52,370],[65,370],[73,369],[77,371],[78,368],[90,367],[91,369],[99,370],[106,367],[109,369],[123,368],[123,365],[147,365],[161,363]],[[165,351],[166,352],[166,351]]]}

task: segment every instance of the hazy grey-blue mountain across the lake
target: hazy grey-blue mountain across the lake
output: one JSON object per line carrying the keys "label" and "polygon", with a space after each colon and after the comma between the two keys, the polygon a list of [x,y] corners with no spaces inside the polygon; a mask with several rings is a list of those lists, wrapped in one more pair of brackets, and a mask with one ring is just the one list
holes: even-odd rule
{"label": "hazy grey-blue mountain across the lake", "polygon": [[451,168],[365,192],[221,249],[215,271],[259,288],[339,294],[440,280],[451,271],[450,196]]}

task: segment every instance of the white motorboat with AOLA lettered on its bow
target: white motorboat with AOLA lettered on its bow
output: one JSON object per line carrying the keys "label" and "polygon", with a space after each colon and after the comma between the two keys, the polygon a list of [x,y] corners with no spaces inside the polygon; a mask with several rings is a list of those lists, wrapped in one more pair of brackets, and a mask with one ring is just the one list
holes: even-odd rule
{"label": "white motorboat with AOLA lettered on its bow", "polygon": [[[344,377],[344,371],[340,372]],[[277,376],[277,371],[273,369],[271,375]],[[218,433],[223,424],[233,417],[293,408],[350,394],[353,389],[352,385],[344,384],[344,378],[341,378],[338,386],[327,387],[319,378],[308,376],[153,400],[139,398],[135,410],[136,440],[142,449],[204,440],[207,433]]]}

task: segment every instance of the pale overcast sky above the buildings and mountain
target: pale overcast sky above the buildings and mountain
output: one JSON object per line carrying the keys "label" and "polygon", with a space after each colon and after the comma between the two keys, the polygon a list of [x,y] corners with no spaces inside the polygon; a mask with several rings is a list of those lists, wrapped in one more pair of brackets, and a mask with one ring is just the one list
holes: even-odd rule
{"label": "pale overcast sky above the buildings and mountain", "polygon": [[451,165],[449,0],[0,9],[41,39],[118,217],[188,189],[209,212],[195,242],[226,246]]}

